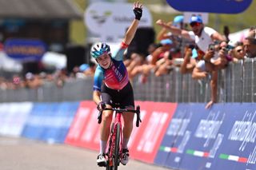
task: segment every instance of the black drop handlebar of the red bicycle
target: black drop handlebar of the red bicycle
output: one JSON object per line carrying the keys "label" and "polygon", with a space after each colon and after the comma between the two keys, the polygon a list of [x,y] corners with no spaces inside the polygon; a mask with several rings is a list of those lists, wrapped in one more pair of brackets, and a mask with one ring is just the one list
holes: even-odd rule
{"label": "black drop handlebar of the red bicycle", "polygon": [[[139,105],[136,107],[136,110],[132,110],[132,109],[117,109],[117,108],[113,108],[113,109],[104,108],[103,110],[112,110],[112,111],[116,111],[118,113],[124,113],[124,112],[136,113],[136,115],[137,115],[136,126],[138,127],[139,123],[142,122],[141,117],[140,117],[140,113],[141,112],[140,112]],[[102,112],[103,112],[103,110],[98,113],[98,124],[100,124],[102,122]]]}

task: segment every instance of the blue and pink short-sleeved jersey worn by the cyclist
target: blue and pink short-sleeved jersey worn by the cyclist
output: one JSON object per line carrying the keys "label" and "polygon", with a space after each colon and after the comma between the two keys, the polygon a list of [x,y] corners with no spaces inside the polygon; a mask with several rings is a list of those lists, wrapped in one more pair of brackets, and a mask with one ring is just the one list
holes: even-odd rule
{"label": "blue and pink short-sleeved jersey worn by the cyclist", "polygon": [[97,66],[94,73],[94,90],[101,91],[102,81],[110,89],[122,89],[129,82],[126,66],[123,63],[123,53],[128,45],[122,42],[117,53],[111,57],[113,64],[109,69]]}

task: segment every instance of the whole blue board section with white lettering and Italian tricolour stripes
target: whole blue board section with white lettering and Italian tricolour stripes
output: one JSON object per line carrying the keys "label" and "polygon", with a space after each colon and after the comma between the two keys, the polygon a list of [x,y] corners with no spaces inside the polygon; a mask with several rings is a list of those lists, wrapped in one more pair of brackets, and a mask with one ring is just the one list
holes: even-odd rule
{"label": "whole blue board section with white lettering and Italian tricolour stripes", "polygon": [[181,169],[254,169],[254,104],[178,104],[154,163]]}

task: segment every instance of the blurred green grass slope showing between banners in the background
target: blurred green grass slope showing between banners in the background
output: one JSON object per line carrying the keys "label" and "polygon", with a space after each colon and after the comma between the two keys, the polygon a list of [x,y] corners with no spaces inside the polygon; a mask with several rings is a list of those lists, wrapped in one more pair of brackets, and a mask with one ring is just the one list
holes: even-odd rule
{"label": "blurred green grass slope showing between banners in the background", "polygon": [[[88,0],[73,0],[84,13],[86,6],[88,5]],[[128,2],[134,2],[132,0],[128,0]],[[150,4],[166,4],[165,0],[144,0],[140,1],[144,6]],[[151,11],[152,12],[152,11]],[[156,34],[161,29],[159,26],[156,26],[154,23],[158,19],[162,19],[164,21],[171,21],[176,14],[155,14],[151,13],[153,18],[153,26]],[[230,33],[234,33],[238,30],[243,30],[249,28],[250,26],[256,26],[256,1],[253,1],[250,7],[241,14],[210,14],[209,16],[209,24],[215,30],[218,30],[222,34],[223,26],[230,27]],[[85,45],[86,44],[86,26],[84,25],[83,20],[81,21],[73,21],[70,23],[70,42],[75,44]]]}

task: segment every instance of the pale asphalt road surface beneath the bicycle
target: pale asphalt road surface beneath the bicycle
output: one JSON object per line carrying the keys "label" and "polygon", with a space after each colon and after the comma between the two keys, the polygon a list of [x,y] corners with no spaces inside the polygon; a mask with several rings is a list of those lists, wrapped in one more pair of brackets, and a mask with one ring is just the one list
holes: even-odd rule
{"label": "pale asphalt road surface beneath the bicycle", "polygon": [[[0,136],[1,170],[96,170],[98,152],[67,144]],[[120,170],[167,170],[152,164],[130,160]]]}

